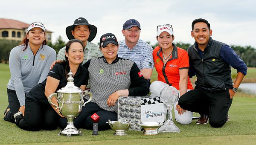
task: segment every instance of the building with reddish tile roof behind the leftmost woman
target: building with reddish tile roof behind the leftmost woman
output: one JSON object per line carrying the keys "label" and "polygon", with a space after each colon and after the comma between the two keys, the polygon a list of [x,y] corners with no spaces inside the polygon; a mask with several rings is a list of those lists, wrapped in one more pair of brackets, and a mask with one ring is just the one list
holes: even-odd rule
{"label": "building with reddish tile roof behind the leftmost woman", "polygon": [[[18,20],[0,18],[0,39],[22,41],[30,24]],[[46,30],[46,39],[51,41],[52,32]]]}

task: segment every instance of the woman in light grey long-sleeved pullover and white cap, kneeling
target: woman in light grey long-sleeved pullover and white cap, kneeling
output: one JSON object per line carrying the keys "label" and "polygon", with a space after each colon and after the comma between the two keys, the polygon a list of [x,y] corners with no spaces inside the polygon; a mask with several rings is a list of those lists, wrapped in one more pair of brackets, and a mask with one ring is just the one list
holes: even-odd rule
{"label": "woman in light grey long-sleeved pullover and white cap, kneeling", "polygon": [[9,56],[11,78],[7,84],[9,105],[4,120],[15,122],[13,114],[24,113],[25,96],[29,90],[44,81],[56,52],[47,46],[45,28],[42,23],[29,25],[21,45],[13,48]]}

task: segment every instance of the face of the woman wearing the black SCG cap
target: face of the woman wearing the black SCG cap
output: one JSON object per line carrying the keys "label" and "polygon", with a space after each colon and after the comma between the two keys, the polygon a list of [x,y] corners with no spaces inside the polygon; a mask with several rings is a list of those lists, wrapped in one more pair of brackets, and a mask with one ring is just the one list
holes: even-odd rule
{"label": "face of the woman wearing the black SCG cap", "polygon": [[108,61],[109,64],[116,59],[118,45],[116,46],[113,43],[107,44],[105,47],[100,48],[104,58]]}

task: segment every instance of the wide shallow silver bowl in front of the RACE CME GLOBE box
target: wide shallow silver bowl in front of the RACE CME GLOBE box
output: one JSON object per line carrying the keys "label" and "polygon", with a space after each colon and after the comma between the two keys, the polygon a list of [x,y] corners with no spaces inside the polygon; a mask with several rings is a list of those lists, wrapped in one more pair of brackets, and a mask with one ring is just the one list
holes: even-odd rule
{"label": "wide shallow silver bowl in front of the RACE CME GLOBE box", "polygon": [[137,123],[137,125],[144,128],[143,134],[156,135],[156,134],[158,134],[157,128],[162,126],[163,122],[139,122],[139,123]]}

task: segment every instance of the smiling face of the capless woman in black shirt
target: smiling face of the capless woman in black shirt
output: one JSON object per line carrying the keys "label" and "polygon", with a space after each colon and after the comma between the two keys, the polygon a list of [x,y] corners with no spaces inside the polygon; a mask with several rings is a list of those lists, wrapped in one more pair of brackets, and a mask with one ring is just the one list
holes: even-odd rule
{"label": "smiling face of the capless woman in black shirt", "polygon": [[65,52],[70,64],[81,64],[84,61],[83,46],[79,42],[74,42],[70,45],[68,53]]}

